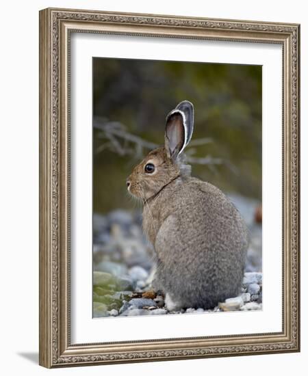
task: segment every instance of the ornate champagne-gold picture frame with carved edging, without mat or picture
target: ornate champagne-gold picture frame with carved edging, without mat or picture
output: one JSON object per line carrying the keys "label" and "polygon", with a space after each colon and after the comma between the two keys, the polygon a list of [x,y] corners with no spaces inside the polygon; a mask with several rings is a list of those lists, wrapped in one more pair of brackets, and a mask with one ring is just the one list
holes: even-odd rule
{"label": "ornate champagne-gold picture frame with carved edging, without mat or picture", "polygon": [[[70,33],[283,46],[283,331],[70,344]],[[40,364],[45,367],[299,351],[300,26],[88,10],[40,11]],[[102,338],[103,340],[103,338]]]}

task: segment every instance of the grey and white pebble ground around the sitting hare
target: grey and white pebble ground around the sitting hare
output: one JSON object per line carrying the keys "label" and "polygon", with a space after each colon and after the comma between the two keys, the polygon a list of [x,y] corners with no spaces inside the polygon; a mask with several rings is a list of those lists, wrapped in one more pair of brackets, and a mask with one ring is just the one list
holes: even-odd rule
{"label": "grey and white pebble ground around the sitting hare", "polygon": [[142,234],[141,215],[118,209],[93,216],[93,317],[261,310],[261,226],[253,220],[257,202],[240,196],[230,198],[251,233],[242,293],[238,297],[231,297],[212,310],[168,311],[164,296],[151,291],[153,251]]}

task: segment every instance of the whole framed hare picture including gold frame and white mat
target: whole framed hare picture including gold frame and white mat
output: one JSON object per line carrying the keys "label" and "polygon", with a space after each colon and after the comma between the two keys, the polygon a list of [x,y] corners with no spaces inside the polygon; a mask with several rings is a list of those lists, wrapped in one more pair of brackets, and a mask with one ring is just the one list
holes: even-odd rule
{"label": "whole framed hare picture including gold frame and white mat", "polygon": [[299,25],[40,11],[40,364],[299,351]]}

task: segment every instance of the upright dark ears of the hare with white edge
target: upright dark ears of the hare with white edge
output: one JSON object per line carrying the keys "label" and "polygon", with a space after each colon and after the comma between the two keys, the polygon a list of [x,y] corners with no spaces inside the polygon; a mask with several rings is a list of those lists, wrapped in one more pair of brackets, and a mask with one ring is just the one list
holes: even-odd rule
{"label": "upright dark ears of the hare with white edge", "polygon": [[183,100],[166,118],[165,148],[168,157],[176,159],[192,138],[194,106]]}

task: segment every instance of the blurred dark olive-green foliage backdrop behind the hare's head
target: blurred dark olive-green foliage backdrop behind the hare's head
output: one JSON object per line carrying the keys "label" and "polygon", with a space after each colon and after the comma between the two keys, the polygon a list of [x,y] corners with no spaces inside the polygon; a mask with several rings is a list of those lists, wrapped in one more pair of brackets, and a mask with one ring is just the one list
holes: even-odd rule
{"label": "blurred dark olive-green foliage backdrop behind the hare's head", "polygon": [[214,162],[193,163],[192,175],[261,201],[261,66],[94,57],[94,212],[133,209],[125,180],[149,148],[125,137],[163,144],[166,115],[184,99],[194,104],[192,141],[207,139],[188,154]]}

